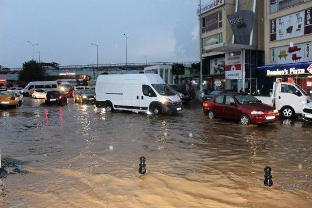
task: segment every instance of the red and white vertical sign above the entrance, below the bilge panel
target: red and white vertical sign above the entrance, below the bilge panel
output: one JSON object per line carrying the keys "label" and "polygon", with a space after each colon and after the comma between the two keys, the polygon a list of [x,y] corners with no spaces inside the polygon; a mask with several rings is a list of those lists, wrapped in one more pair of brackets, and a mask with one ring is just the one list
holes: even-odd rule
{"label": "red and white vertical sign above the entrance, below the bilge panel", "polygon": [[225,78],[242,78],[242,52],[233,51],[225,54]]}

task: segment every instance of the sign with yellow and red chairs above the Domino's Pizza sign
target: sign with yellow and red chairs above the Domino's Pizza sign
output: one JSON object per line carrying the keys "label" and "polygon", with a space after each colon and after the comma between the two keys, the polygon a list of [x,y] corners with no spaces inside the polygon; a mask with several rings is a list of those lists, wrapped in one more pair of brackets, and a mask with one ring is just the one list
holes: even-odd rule
{"label": "sign with yellow and red chairs above the Domino's Pizza sign", "polygon": [[270,49],[271,64],[312,61],[312,42],[281,46]]}

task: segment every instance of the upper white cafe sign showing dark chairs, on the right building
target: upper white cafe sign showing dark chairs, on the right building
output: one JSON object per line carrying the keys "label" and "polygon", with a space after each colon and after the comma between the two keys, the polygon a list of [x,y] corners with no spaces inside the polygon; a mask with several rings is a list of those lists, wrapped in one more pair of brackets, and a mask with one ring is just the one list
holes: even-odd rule
{"label": "upper white cafe sign showing dark chairs, on the right building", "polygon": [[312,8],[270,20],[270,40],[282,40],[312,33]]}

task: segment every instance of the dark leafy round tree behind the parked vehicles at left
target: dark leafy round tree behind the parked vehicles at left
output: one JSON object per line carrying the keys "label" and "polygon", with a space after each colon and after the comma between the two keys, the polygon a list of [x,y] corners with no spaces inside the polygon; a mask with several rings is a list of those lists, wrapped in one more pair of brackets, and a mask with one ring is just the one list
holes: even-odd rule
{"label": "dark leafy round tree behind the parked vehicles at left", "polygon": [[43,81],[46,79],[46,73],[37,61],[30,60],[23,63],[23,69],[20,71],[19,79],[26,83],[31,81]]}

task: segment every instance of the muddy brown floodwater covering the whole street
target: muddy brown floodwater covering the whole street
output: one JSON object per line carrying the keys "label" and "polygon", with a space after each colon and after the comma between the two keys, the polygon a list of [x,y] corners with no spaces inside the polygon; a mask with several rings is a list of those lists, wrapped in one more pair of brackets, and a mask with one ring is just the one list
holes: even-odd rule
{"label": "muddy brown floodwater covering the whole street", "polygon": [[151,116],[42,102],[0,110],[1,154],[30,171],[3,179],[4,207],[312,207],[311,124],[210,121],[198,104]]}

